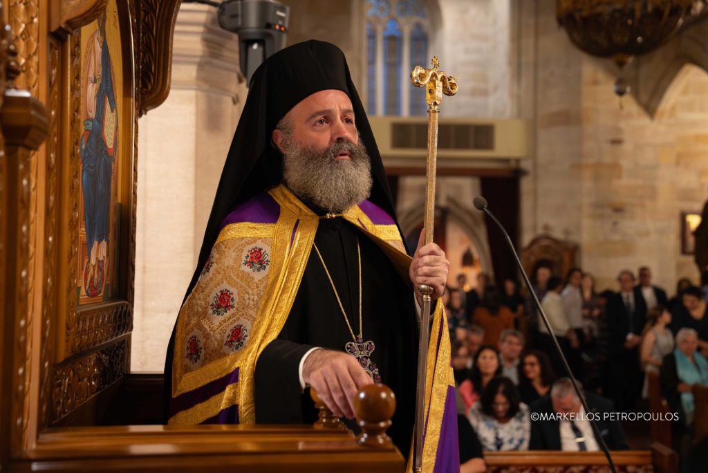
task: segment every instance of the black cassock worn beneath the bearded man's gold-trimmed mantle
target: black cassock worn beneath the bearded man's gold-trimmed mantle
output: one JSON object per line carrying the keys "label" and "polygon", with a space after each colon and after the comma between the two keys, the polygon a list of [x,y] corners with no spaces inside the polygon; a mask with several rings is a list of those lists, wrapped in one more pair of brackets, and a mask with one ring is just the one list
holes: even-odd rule
{"label": "black cassock worn beneath the bearded man's gold-trimmed mantle", "polygon": [[[323,218],[314,242],[329,270],[349,324],[359,334],[357,239],[362,266],[362,338],[370,358],[396,395],[388,434],[405,456],[411,447],[416,402],[417,335],[413,291],[374,241],[341,217]],[[310,348],[344,351],[353,341],[334,291],[312,249],[290,315],[278,338],[256,363],[256,423],[313,423],[309,389],[300,390],[298,367]]]}

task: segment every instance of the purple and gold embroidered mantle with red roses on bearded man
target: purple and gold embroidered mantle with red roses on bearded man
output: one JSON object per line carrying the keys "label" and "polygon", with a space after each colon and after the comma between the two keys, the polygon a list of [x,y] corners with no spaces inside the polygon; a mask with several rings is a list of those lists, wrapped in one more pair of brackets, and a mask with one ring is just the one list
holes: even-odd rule
{"label": "purple and gold embroidered mantle with red roses on bearded man", "polygon": [[[365,200],[343,217],[375,241],[408,280],[411,258],[384,210]],[[224,220],[178,315],[169,423],[255,422],[256,361],[290,314],[318,222],[282,185],[256,195]],[[440,460],[458,462],[455,380],[450,339],[442,324],[445,314],[438,302],[428,348],[423,466],[431,467],[426,471],[433,471]],[[452,434],[454,452],[447,440]]]}

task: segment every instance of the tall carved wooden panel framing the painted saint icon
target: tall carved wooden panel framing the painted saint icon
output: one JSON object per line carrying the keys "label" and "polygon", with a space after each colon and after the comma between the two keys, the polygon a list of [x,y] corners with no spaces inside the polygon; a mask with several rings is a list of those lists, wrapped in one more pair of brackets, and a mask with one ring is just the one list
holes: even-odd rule
{"label": "tall carved wooden panel framing the painted saint icon", "polygon": [[[49,424],[117,381],[130,366],[130,350],[125,347],[130,347],[135,268],[136,54],[130,47],[135,35],[135,18],[131,16],[134,2],[108,0],[98,4],[74,2],[76,11],[82,12],[81,21],[62,17],[62,25],[79,28],[67,35],[61,61],[69,81],[64,90],[69,96],[60,113],[67,132],[60,146],[65,159],[58,183],[62,216],[58,244],[61,258],[56,271],[58,302],[50,316],[53,322],[49,322],[55,325],[52,331],[56,344],[49,374],[51,396],[45,404],[50,406]],[[101,130],[101,135],[93,137],[93,130]],[[94,149],[98,154],[94,158],[89,153],[96,139],[98,148]],[[102,160],[108,180],[92,184],[101,175],[89,166],[99,164],[85,159]],[[105,190],[90,186],[103,186]],[[93,212],[93,207],[86,205],[87,198],[96,198],[87,194],[95,192],[93,189],[108,196],[108,200],[104,197],[106,207],[101,208],[105,209],[102,215],[108,220],[105,228],[110,234],[102,237],[101,247],[91,237],[95,233],[86,232],[87,225],[96,222],[93,215],[98,215],[92,213],[89,220],[87,214]],[[93,253],[87,250],[92,247]],[[98,253],[98,249],[104,252]],[[96,280],[100,283],[94,285]]]}

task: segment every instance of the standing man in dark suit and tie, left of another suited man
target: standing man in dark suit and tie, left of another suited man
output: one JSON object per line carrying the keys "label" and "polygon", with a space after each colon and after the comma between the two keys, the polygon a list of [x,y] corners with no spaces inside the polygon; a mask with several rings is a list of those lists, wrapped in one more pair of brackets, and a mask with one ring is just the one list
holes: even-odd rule
{"label": "standing man in dark suit and tie, left of another suited man", "polygon": [[631,412],[644,381],[644,373],[639,367],[639,344],[646,320],[646,305],[643,298],[636,297],[632,271],[623,270],[617,281],[619,292],[607,301],[605,311],[610,338],[605,396],[612,399],[618,411]]}

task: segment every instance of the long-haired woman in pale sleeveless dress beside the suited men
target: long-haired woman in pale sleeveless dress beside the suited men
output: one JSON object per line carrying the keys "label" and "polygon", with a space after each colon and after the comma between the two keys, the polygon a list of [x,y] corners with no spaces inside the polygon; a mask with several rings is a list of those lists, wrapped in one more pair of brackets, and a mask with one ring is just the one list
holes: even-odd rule
{"label": "long-haired woman in pale sleeveless dress beside the suited men", "polygon": [[[663,358],[673,351],[673,334],[668,329],[671,323],[671,313],[658,305],[646,312],[646,329],[641,339],[639,361],[645,373],[658,374]],[[649,376],[644,377],[642,399],[649,397]]]}

